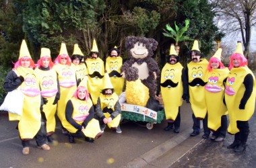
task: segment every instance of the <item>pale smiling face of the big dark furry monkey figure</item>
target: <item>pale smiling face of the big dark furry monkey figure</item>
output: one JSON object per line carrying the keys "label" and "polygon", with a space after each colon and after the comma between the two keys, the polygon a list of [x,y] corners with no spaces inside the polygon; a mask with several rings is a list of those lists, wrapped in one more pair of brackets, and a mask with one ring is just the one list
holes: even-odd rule
{"label": "pale smiling face of the big dark furry monkey figure", "polygon": [[134,58],[146,58],[148,56],[148,48],[141,42],[136,42],[130,52]]}

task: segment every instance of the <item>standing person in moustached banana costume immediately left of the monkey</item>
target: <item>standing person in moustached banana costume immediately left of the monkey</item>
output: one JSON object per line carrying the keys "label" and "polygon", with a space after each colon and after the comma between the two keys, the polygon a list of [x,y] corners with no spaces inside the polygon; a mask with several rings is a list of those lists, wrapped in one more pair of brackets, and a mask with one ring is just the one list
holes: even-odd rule
{"label": "standing person in moustached banana costume immediately left of the monkey", "polygon": [[118,96],[123,92],[123,85],[125,83],[125,79],[121,75],[122,65],[123,58],[120,56],[119,49],[115,46],[110,50],[110,56],[106,58],[106,71],[109,73],[110,81]]}

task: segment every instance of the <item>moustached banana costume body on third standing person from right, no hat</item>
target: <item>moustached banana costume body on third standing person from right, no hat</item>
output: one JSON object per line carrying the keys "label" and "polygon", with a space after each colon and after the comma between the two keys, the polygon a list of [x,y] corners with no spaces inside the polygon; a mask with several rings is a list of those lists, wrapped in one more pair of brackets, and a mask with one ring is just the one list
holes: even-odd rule
{"label": "moustached banana costume body on third standing person from right, no hat", "polygon": [[[208,61],[201,59],[201,62],[189,62],[187,68],[189,70],[188,77],[189,83],[195,78],[200,78],[204,82],[207,82],[207,66]],[[207,108],[205,101],[205,89],[203,86],[189,86],[189,97],[191,102],[191,108],[195,114],[195,118],[205,118]]]}

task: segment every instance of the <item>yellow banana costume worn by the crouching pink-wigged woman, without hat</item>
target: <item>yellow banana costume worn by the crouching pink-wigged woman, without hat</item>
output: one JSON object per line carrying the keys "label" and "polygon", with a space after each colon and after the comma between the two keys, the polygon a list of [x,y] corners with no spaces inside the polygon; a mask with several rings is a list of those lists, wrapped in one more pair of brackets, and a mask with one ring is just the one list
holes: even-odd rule
{"label": "yellow banana costume worn by the crouching pink-wigged woman, without hat", "polygon": [[[86,120],[87,116],[89,116],[89,110],[92,108],[92,100],[89,98],[88,101],[82,101],[75,97],[71,98],[71,102],[73,104],[73,114],[72,118],[77,122],[77,124],[82,125],[84,120]],[[73,127],[67,120],[64,120],[63,126],[71,133],[77,132],[77,128]],[[100,124],[98,120],[92,118],[90,122],[88,122],[86,128],[83,131],[84,135],[89,138],[96,138],[100,132]]]}

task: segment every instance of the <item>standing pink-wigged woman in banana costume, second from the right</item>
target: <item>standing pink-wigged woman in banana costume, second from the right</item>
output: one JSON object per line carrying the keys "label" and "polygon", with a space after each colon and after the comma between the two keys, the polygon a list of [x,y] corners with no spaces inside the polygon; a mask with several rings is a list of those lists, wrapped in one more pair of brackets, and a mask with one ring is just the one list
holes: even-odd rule
{"label": "standing pink-wigged woman in banana costume, second from the right", "polygon": [[224,67],[220,58],[222,48],[219,48],[210,58],[207,79],[205,85],[205,99],[208,114],[208,128],[213,131],[211,140],[220,142],[226,137],[228,119],[227,108],[224,104],[224,89],[229,70]]}

